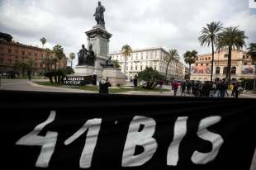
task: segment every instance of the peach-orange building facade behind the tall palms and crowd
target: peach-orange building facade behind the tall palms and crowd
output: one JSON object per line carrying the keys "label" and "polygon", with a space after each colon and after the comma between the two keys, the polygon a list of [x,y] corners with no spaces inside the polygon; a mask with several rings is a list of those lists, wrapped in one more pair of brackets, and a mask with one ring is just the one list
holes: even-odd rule
{"label": "peach-orange building facade behind the tall palms and crowd", "polygon": [[[249,54],[243,50],[233,50],[231,55],[231,79],[254,78],[255,68]],[[213,80],[226,77],[228,64],[228,50],[214,54]],[[192,64],[192,80],[211,80],[211,54],[199,55]]]}

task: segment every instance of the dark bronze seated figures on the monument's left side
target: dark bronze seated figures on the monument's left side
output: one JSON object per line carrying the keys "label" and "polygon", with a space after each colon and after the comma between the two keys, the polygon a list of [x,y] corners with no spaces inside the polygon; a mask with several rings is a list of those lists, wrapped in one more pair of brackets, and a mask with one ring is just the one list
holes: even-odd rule
{"label": "dark bronze seated figures on the monument's left side", "polygon": [[89,45],[89,50],[84,48],[84,45],[82,45],[82,49],[79,50],[79,53],[78,53],[78,65],[94,66],[94,63],[95,63],[95,55],[92,50],[92,45]]}

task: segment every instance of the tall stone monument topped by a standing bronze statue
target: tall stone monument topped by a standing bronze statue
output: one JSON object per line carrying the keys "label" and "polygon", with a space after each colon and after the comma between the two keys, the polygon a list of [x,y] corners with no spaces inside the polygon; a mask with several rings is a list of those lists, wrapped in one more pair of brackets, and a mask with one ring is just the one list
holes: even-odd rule
{"label": "tall stone monument topped by a standing bronze statue", "polygon": [[74,68],[77,76],[90,76],[97,78],[97,83],[102,78],[108,78],[112,86],[122,85],[126,83],[126,78],[121,69],[114,68],[111,63],[109,53],[109,41],[111,34],[105,29],[104,12],[105,7],[98,2],[93,16],[97,21],[97,25],[92,30],[86,31],[88,36],[88,50],[82,45],[82,49],[78,52],[78,65]]}

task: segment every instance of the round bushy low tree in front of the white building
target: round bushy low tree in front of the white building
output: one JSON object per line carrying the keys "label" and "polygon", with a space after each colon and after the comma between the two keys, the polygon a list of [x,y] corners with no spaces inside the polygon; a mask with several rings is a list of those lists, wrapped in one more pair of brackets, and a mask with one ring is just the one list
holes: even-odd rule
{"label": "round bushy low tree in front of the white building", "polygon": [[152,67],[147,67],[145,70],[138,73],[138,78],[146,82],[146,89],[153,89],[158,85],[159,79],[164,79],[164,76]]}

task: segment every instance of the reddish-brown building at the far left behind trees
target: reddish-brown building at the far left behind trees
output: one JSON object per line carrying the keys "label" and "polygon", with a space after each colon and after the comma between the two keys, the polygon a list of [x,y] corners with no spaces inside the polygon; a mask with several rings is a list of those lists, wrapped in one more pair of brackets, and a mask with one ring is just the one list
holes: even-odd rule
{"label": "reddish-brown building at the far left behind trees", "polygon": [[[54,52],[50,54],[51,58],[55,58]],[[45,73],[45,49],[38,48],[31,45],[22,45],[21,43],[6,40],[0,40],[0,73],[7,73],[8,71],[21,72],[17,70],[16,64],[18,62],[27,62],[29,59],[33,61],[32,73],[40,75]],[[64,68],[67,65],[67,59],[61,59],[57,63],[57,68]],[[53,65],[50,65],[52,68]]]}

